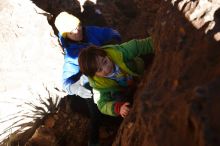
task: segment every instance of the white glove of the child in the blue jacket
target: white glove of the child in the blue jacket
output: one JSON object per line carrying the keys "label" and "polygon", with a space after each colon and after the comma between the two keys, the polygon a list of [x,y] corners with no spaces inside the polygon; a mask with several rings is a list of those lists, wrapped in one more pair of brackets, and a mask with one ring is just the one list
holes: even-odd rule
{"label": "white glove of the child in the blue jacket", "polygon": [[82,98],[92,98],[92,93],[90,90],[83,87],[80,83],[82,81],[78,80],[76,83],[70,86],[70,90],[73,94],[78,95]]}

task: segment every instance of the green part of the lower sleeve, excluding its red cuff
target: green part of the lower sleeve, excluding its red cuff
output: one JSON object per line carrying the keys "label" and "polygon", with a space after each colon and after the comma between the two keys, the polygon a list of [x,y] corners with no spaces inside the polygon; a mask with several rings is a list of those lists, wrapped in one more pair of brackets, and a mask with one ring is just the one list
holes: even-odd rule
{"label": "green part of the lower sleeve, excluding its red cuff", "polygon": [[117,116],[114,112],[114,99],[111,97],[110,91],[99,91],[93,88],[94,101],[101,113]]}

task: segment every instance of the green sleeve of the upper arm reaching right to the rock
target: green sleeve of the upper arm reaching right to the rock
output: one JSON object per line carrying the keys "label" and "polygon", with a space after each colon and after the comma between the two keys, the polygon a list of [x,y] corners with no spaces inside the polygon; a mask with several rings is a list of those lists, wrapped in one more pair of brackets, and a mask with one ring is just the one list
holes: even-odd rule
{"label": "green sleeve of the upper arm reaching right to the rock", "polygon": [[117,45],[114,48],[120,50],[125,60],[133,59],[140,55],[154,53],[153,41],[151,37],[131,40],[121,45]]}

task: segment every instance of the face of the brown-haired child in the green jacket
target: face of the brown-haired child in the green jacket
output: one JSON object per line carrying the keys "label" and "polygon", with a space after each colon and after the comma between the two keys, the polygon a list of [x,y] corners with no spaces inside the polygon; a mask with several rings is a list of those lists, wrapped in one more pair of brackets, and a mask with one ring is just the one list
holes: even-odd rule
{"label": "face of the brown-haired child in the green jacket", "polygon": [[113,72],[114,65],[113,62],[106,57],[98,56],[97,59],[98,70],[95,73],[96,76],[105,77]]}

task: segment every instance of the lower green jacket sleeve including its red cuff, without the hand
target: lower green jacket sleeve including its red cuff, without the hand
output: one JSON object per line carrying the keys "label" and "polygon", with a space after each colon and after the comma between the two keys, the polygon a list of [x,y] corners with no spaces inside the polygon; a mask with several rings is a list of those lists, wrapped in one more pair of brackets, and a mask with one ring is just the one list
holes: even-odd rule
{"label": "lower green jacket sleeve including its red cuff, without the hand", "polygon": [[121,107],[126,102],[116,101],[111,97],[110,91],[99,91],[93,88],[94,102],[97,104],[101,113],[109,116],[121,115]]}

